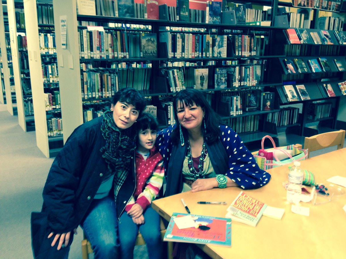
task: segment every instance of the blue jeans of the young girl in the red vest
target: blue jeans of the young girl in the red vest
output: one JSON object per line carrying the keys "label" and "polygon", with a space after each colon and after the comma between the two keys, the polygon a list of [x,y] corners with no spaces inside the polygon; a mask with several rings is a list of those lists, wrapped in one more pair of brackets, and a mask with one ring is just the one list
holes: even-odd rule
{"label": "blue jeans of the young girl in the red vest", "polygon": [[118,228],[122,259],[133,259],[133,251],[138,230],[142,234],[147,245],[149,259],[162,258],[160,216],[152,207],[148,207],[144,211],[143,216],[145,223],[142,225],[135,224],[126,212],[122,213],[120,217]]}

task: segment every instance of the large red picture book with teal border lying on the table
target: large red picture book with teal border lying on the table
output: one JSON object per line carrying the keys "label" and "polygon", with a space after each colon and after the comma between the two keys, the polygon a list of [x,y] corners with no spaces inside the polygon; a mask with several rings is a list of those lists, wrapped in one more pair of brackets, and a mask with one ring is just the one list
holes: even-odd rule
{"label": "large red picture book with teal border lying on the table", "polygon": [[231,230],[231,219],[174,212],[163,240],[231,246]]}

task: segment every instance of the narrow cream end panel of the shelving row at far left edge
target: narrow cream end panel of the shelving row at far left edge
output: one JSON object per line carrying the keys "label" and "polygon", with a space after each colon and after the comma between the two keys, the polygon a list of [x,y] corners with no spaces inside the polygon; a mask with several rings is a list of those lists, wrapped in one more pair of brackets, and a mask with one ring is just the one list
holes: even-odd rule
{"label": "narrow cream end panel of the shelving row at far left edge", "polygon": [[2,73],[3,73],[3,83],[5,88],[5,97],[6,97],[6,108],[7,111],[13,115],[12,107],[12,94],[10,86],[10,73],[8,68],[7,60],[7,48],[6,48],[6,37],[5,37],[5,25],[4,25],[4,10],[2,4],[0,4],[0,47],[2,53]]}

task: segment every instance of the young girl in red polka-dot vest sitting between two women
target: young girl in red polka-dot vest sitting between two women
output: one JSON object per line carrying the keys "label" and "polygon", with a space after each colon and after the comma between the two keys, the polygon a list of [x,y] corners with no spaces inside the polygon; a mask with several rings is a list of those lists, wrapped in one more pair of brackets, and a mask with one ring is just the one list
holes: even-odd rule
{"label": "young girl in red polka-dot vest sitting between two women", "polygon": [[155,149],[156,119],[148,113],[137,119],[136,189],[119,220],[120,253],[132,259],[138,230],[147,245],[149,259],[162,258],[160,216],[151,207],[164,177],[163,159]]}

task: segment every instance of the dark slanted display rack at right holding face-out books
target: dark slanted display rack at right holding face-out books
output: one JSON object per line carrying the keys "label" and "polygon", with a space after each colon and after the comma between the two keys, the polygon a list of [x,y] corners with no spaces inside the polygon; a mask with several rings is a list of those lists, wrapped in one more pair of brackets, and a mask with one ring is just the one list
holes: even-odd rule
{"label": "dark slanted display rack at right holding face-out books", "polygon": [[[315,10],[315,19],[318,17],[318,12],[318,10]],[[318,22],[313,20],[311,27],[315,27],[317,24]],[[294,30],[295,28],[290,29]],[[275,35],[277,47],[274,51],[276,54],[284,54],[285,57],[273,60],[271,76],[275,78],[274,80],[282,82],[281,85],[276,86],[276,93],[280,97],[280,105],[284,107],[293,105],[301,108],[298,122],[285,127],[286,133],[312,136],[336,130],[340,100],[345,99],[338,83],[345,81],[346,73],[345,70],[342,71],[337,68],[334,59],[338,59],[342,67],[346,69],[346,45],[339,44],[334,31],[323,30],[333,42],[333,44],[323,44],[322,35],[320,34],[321,29],[303,29],[307,31],[309,36],[311,35],[310,32],[317,32],[322,44],[314,44],[314,42],[310,44],[291,44],[285,30],[277,31]],[[303,29],[299,30],[303,31]],[[324,71],[323,66],[321,67],[320,61],[318,61],[319,58],[324,59],[329,64],[326,71]],[[313,64],[314,60],[322,70],[318,68],[315,71],[312,70],[309,63]],[[298,71],[297,62],[301,68],[300,71]],[[293,67],[290,63],[293,63]],[[301,63],[305,64],[305,71],[303,71]],[[335,96],[328,96],[326,90],[328,84],[333,89]],[[295,92],[297,92],[298,100],[289,102],[282,88],[283,85],[292,85]],[[297,85],[304,85],[310,99],[299,96]]]}

